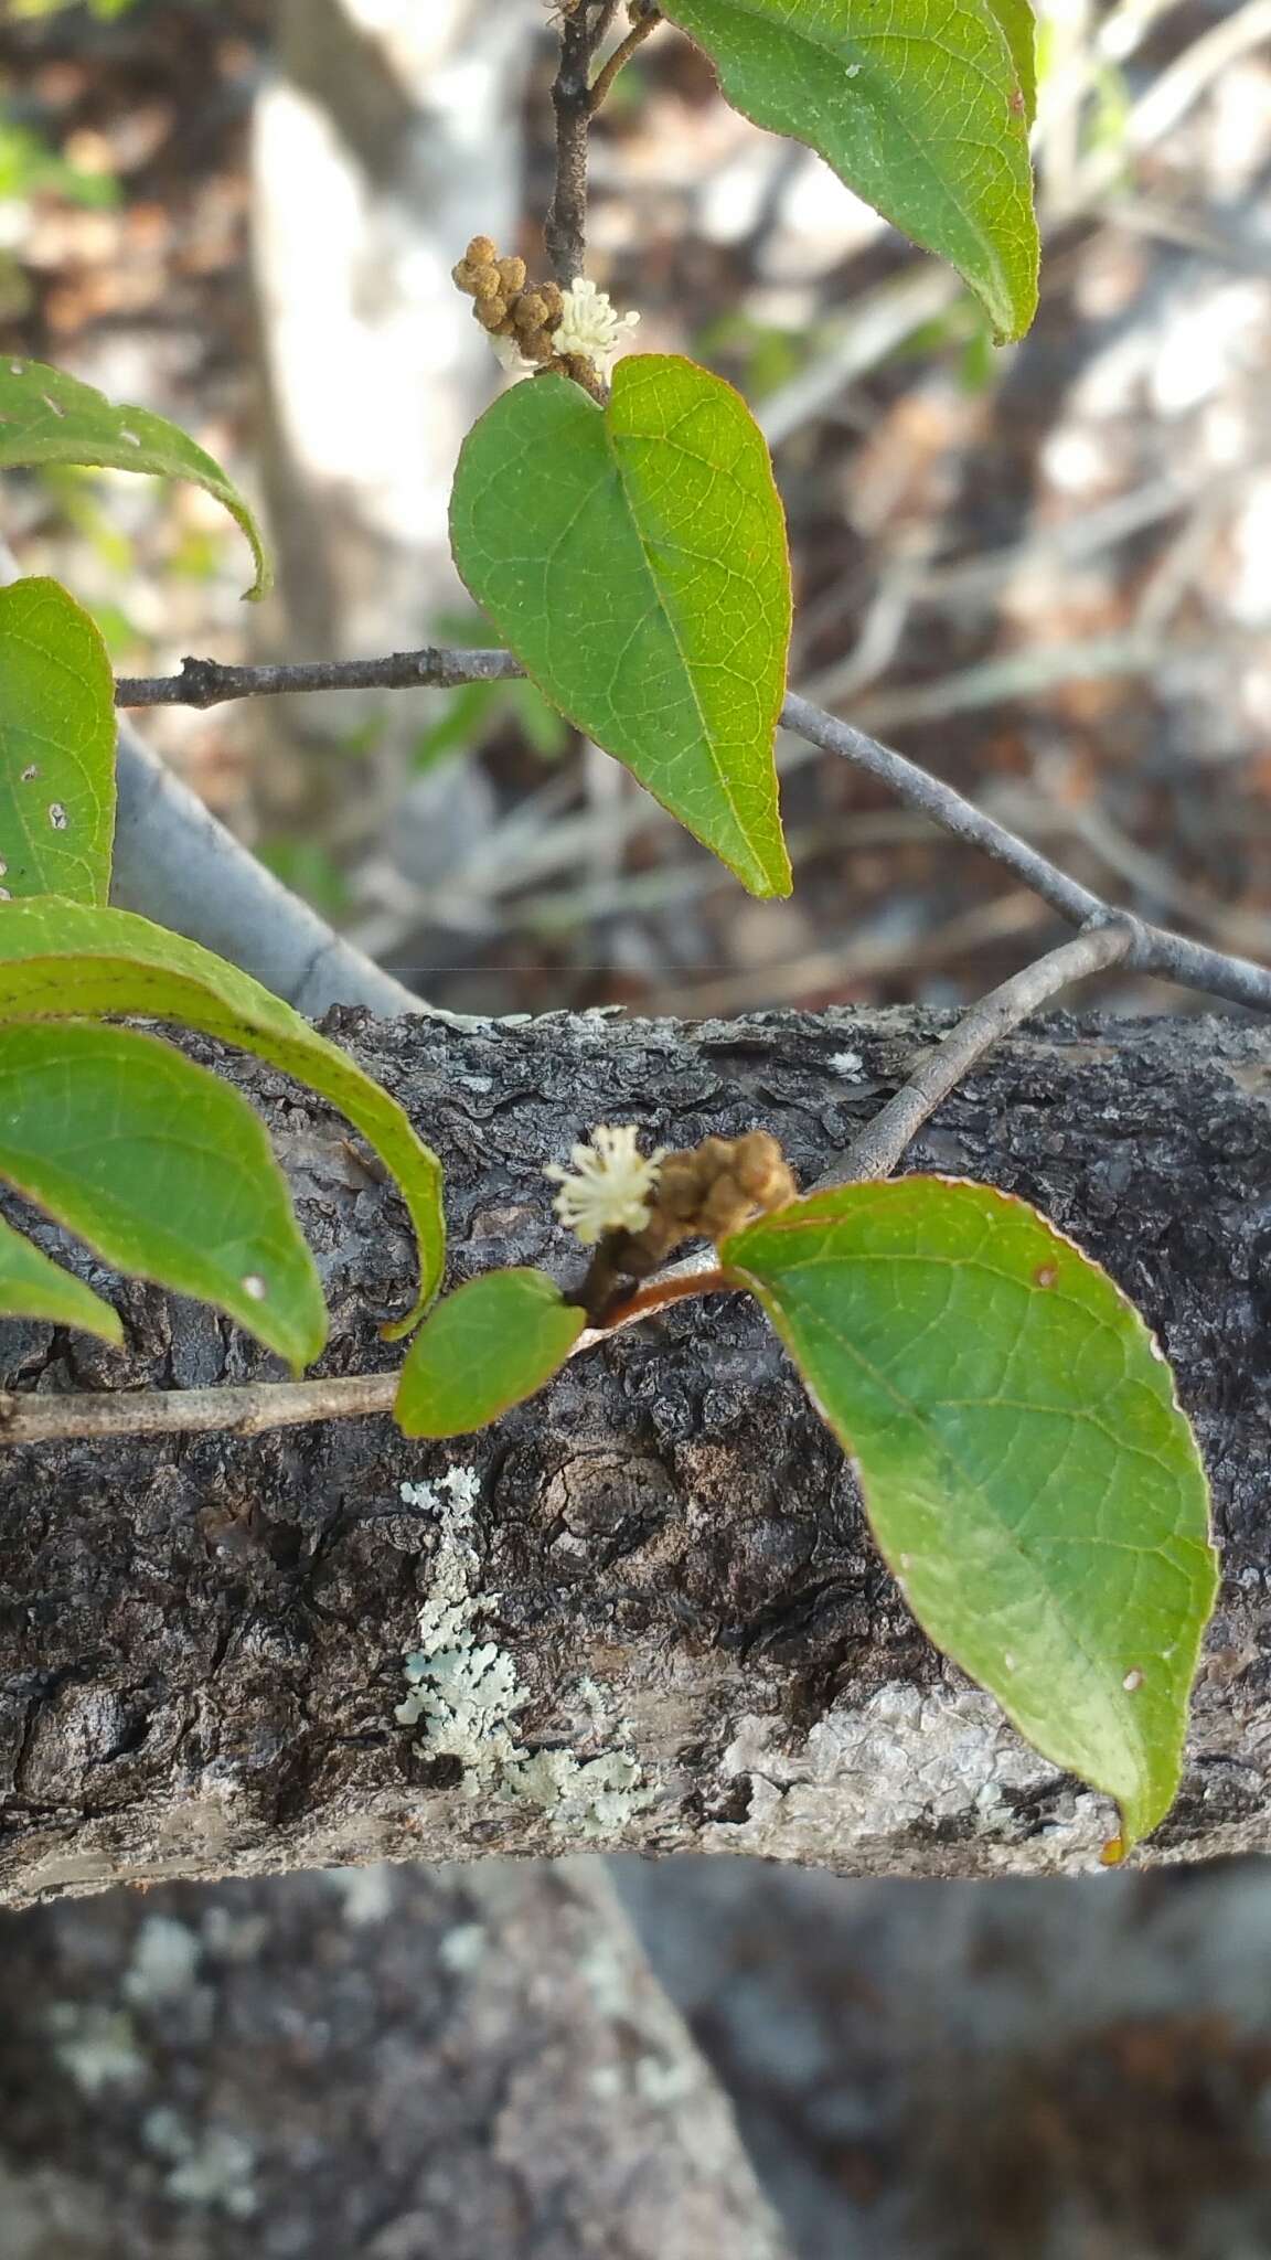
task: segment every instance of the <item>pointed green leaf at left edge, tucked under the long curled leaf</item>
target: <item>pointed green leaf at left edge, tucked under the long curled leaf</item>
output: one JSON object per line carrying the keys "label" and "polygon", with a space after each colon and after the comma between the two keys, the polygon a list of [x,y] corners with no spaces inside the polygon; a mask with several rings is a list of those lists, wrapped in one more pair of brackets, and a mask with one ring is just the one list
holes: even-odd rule
{"label": "pointed green leaf at left edge, tucked under the long curled leaf", "polygon": [[106,1263],[215,1302],[296,1372],[326,1342],[265,1125],[156,1035],[0,1026],[0,1177]]}

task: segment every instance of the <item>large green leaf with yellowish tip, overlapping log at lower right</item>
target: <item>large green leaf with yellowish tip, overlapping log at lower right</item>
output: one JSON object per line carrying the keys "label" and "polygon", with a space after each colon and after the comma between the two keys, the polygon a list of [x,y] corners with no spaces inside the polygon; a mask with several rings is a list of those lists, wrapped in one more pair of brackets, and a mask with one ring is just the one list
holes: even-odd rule
{"label": "large green leaf with yellowish tip, overlapping log at lower right", "polygon": [[719,1254],[918,1623],[1117,1799],[1129,1849],[1176,1794],[1214,1602],[1201,1458],[1133,1304],[1027,1202],[945,1177],[814,1193]]}

